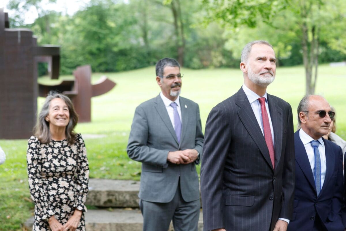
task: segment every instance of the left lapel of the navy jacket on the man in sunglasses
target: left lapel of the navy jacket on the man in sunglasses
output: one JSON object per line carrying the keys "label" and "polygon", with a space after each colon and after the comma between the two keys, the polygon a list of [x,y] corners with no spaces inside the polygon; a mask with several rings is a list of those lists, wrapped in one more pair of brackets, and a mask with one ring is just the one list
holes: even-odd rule
{"label": "left lapel of the navy jacket on the man in sunglasses", "polygon": [[315,180],[313,179],[310,161],[308,158],[308,154],[306,153],[305,147],[303,145],[303,142],[299,137],[299,130],[294,133],[294,147],[295,161],[297,162],[305,177],[308,179],[311,187],[315,188],[316,192]]}

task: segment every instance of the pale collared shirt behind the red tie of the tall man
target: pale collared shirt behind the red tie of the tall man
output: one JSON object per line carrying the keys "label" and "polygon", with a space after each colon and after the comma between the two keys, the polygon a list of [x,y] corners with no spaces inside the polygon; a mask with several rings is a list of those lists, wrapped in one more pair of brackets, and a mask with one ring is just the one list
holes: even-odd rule
{"label": "pale collared shirt behind the red tie of the tall man", "polygon": [[[248,87],[245,86],[245,84],[243,85],[243,90],[245,92],[245,95],[247,97],[247,99],[250,102],[250,105],[252,107],[252,110],[255,114],[255,117],[257,119],[257,123],[258,125],[260,125],[262,134],[264,136],[264,132],[263,132],[263,121],[262,121],[262,110],[261,110],[261,103],[258,100],[258,98],[261,98],[261,96],[257,95],[255,92],[253,92],[252,90],[250,90]],[[270,117],[270,112],[269,112],[269,106],[268,106],[268,100],[267,100],[267,92],[265,92],[264,96],[262,96],[265,98],[265,108],[267,109],[267,113],[268,113],[268,119],[269,119],[269,124],[270,124],[270,131],[272,132],[272,138],[273,138],[273,145],[275,147],[275,142],[274,142],[274,130],[273,130],[273,124],[272,124],[272,119]]]}

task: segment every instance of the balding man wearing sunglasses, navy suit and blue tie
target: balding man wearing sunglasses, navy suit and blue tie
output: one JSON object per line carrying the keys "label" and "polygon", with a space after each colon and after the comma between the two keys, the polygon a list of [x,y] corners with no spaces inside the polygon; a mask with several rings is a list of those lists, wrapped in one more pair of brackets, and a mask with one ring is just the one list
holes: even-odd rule
{"label": "balding man wearing sunglasses, navy suit and blue tie", "polygon": [[322,137],[334,116],[321,96],[307,95],[299,103],[301,129],[294,134],[295,195],[288,231],[345,230],[342,150]]}

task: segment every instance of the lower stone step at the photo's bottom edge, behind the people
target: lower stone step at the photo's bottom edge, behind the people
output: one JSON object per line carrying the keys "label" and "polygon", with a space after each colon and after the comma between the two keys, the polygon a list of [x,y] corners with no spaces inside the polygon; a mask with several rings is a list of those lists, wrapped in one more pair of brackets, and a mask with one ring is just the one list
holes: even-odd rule
{"label": "lower stone step at the photo's bottom edge, behind the people", "polygon": [[[34,217],[28,219],[24,226],[32,231]],[[88,210],[85,213],[85,229],[88,231],[142,231],[143,217],[140,210]],[[199,216],[198,230],[203,230],[202,212]],[[174,231],[171,223],[169,231]]]}

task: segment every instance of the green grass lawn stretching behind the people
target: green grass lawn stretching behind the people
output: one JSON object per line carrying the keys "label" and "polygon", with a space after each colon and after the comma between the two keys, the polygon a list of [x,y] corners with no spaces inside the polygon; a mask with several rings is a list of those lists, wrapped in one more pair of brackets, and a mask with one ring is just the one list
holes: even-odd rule
{"label": "green grass lawn stretching behind the people", "polygon": [[[211,108],[233,95],[243,83],[242,72],[238,69],[182,69],[181,72],[184,74],[181,96],[199,104],[203,130]],[[101,75],[103,73],[93,74],[92,82],[96,82]],[[94,97],[92,122],[76,127],[76,131],[85,137],[90,177],[139,180],[140,163],[127,157],[126,144],[136,106],[160,93],[155,68],[106,75],[117,86],[105,95]],[[267,91],[291,104],[294,123],[297,124],[296,110],[305,92],[304,69],[302,66],[278,68],[276,76]],[[47,77],[39,81],[57,82]],[[336,133],[343,139],[346,139],[345,83],[345,67],[320,65],[316,94],[323,95],[336,108]],[[43,98],[38,99],[39,107],[43,101]],[[89,134],[104,137],[92,139]],[[33,214],[34,207],[27,184],[27,140],[0,140],[0,145],[7,154],[6,162],[0,166],[0,230],[21,230],[22,223]]]}

